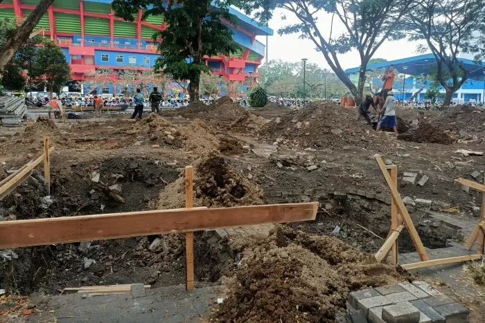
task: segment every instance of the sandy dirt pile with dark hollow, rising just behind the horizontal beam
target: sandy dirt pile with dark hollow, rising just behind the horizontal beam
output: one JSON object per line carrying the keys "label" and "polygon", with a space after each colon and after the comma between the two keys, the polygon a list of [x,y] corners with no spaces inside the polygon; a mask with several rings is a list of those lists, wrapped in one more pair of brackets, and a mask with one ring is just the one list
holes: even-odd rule
{"label": "sandy dirt pile with dark hollow, rising just behind the horizontal beam", "polygon": [[[266,199],[261,187],[243,177],[218,152],[193,163],[194,206],[231,207],[261,205]],[[170,183],[159,196],[159,209],[185,207],[184,176]]]}

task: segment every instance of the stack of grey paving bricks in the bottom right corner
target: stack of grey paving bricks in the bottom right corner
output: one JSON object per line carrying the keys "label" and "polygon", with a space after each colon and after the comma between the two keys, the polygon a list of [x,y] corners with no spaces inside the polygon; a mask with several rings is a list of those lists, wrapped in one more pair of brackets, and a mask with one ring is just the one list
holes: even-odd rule
{"label": "stack of grey paving bricks in the bottom right corner", "polygon": [[349,294],[347,322],[468,322],[468,309],[425,282],[389,285]]}

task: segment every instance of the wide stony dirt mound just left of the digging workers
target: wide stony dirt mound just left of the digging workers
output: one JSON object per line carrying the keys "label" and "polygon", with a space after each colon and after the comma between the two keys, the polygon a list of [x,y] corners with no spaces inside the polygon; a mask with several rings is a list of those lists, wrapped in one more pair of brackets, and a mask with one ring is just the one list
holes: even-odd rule
{"label": "wide stony dirt mound just left of the digging workers", "polygon": [[303,147],[354,145],[375,149],[376,145],[387,145],[386,140],[374,140],[378,134],[355,118],[354,109],[343,109],[332,102],[312,102],[306,108],[275,118],[260,133],[270,142],[283,138]]}

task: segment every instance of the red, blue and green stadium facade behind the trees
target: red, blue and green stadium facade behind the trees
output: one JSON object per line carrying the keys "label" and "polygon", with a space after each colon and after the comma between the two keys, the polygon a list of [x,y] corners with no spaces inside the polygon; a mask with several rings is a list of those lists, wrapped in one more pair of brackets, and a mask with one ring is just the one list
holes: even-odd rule
{"label": "red, blue and green stadium facade behind the trees", "polygon": [[[134,68],[149,70],[158,57],[152,35],[164,30],[164,17],[150,16],[141,21],[143,11],[133,22],[123,21],[114,15],[110,0],[55,0],[40,19],[38,28],[51,37],[67,57],[72,79],[83,82],[85,73],[96,68],[114,71]],[[39,0],[3,0],[0,18],[21,19],[28,17]],[[265,45],[256,40],[258,35],[273,35],[273,30],[259,26],[256,21],[237,10],[229,9],[238,17],[237,26],[224,21],[233,31],[233,40],[241,50],[229,57],[206,57],[206,65],[213,74],[222,75],[229,81],[245,82],[247,77],[258,77],[257,68],[265,54]],[[36,28],[36,29],[38,29]],[[98,93],[120,93],[114,83],[98,89]],[[255,82],[251,82],[253,84]]]}

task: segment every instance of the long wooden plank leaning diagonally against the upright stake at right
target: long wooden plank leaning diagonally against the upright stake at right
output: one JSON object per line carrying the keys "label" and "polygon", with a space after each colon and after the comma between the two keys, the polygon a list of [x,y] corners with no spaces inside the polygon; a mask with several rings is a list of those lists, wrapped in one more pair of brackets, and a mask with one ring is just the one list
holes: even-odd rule
{"label": "long wooden plank leaning diagonally against the upright stake at right", "polygon": [[425,261],[429,259],[429,257],[427,257],[427,252],[423,246],[423,243],[421,242],[421,238],[419,237],[419,234],[416,231],[416,228],[414,228],[414,223],[412,223],[411,216],[409,216],[409,213],[407,212],[407,209],[403,203],[403,199],[401,199],[398,189],[392,182],[391,175],[389,175],[389,172],[387,172],[384,161],[382,161],[382,158],[380,157],[380,155],[375,155],[374,158],[376,158],[376,162],[379,165],[382,175],[384,176],[387,182],[387,186],[389,187],[389,190],[391,190],[391,196],[392,196],[392,199],[394,199],[394,201],[396,202],[396,206],[398,207],[398,212],[401,214],[401,216],[403,216],[403,221],[404,223],[406,223],[407,231],[409,232],[409,235],[411,236],[414,246],[416,246],[416,250],[418,251],[419,259],[421,259],[421,261]]}

